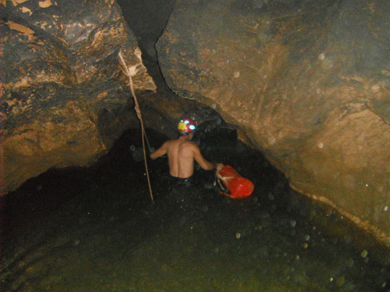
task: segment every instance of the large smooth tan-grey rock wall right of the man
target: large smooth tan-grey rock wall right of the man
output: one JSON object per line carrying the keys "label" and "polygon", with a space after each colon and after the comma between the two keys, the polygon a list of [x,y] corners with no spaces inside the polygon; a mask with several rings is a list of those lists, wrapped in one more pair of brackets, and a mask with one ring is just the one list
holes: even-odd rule
{"label": "large smooth tan-grey rock wall right of the man", "polygon": [[179,0],[156,47],[172,90],[215,107],[293,188],[390,244],[389,12]]}

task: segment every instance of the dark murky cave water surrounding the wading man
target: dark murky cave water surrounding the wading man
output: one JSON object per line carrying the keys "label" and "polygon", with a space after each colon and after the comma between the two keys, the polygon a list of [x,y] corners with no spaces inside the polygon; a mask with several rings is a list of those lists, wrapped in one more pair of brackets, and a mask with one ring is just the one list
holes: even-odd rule
{"label": "dark murky cave water surrounding the wading man", "polygon": [[202,170],[195,186],[168,185],[159,158],[152,204],[140,137],[125,133],[98,165],[53,169],[7,196],[0,290],[390,291],[388,251],[368,234],[290,190],[234,132],[196,139],[254,181],[250,198],[216,192]]}

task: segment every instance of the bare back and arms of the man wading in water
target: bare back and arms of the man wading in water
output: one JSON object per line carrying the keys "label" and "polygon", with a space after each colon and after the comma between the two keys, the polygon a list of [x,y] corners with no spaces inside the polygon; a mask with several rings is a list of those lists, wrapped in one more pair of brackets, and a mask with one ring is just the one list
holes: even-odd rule
{"label": "bare back and arms of the man wading in water", "polygon": [[165,142],[158,150],[151,154],[156,159],[165,154],[168,155],[169,173],[176,178],[189,178],[194,172],[194,160],[206,170],[217,169],[220,171],[223,164],[213,164],[204,159],[197,144],[188,141],[188,136],[180,136],[179,139]]}

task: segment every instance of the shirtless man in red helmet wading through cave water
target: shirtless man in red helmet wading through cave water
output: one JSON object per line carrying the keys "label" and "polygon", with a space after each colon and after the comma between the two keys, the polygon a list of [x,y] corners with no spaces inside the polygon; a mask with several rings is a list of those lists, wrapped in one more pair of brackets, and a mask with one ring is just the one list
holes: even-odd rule
{"label": "shirtless man in red helmet wading through cave water", "polygon": [[182,118],[177,125],[177,130],[179,130],[180,137],[165,142],[150,157],[156,159],[167,154],[169,173],[177,178],[179,183],[186,183],[193,175],[194,160],[205,170],[216,169],[216,173],[218,173],[222,169],[222,163],[208,162],[200,153],[197,144],[190,141],[196,130],[195,120]]}

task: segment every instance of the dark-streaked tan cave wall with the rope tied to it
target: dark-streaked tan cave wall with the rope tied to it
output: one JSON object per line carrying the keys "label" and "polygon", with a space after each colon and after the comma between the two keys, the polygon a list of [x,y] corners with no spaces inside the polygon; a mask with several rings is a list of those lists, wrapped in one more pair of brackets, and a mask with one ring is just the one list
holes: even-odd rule
{"label": "dark-streaked tan cave wall with the rope tied to it", "polygon": [[0,2],[1,194],[52,166],[89,165],[138,126],[119,50],[135,89],[156,90],[115,1],[38,4]]}

